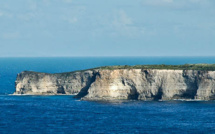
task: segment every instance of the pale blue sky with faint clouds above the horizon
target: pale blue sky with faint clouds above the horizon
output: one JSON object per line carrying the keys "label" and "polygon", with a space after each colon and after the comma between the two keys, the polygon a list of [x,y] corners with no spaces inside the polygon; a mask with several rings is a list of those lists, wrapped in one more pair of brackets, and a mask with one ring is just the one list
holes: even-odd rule
{"label": "pale blue sky with faint clouds above the horizon", "polygon": [[0,0],[0,57],[215,56],[215,0]]}

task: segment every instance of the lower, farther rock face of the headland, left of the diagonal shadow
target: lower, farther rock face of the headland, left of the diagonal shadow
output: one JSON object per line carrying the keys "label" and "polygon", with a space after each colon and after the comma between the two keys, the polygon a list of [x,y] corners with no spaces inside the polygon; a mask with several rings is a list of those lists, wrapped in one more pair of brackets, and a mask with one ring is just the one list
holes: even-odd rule
{"label": "lower, farther rock face of the headland, left of the diagonal shadow", "polygon": [[93,71],[46,74],[25,71],[17,75],[14,94],[78,94],[92,83]]}

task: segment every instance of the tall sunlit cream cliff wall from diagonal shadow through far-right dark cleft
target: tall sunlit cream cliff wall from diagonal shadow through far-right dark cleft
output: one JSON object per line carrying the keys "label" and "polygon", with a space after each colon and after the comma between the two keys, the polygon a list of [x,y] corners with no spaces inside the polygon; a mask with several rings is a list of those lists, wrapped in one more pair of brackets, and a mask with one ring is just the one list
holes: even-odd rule
{"label": "tall sunlit cream cliff wall from diagonal shadow through far-right dark cleft", "polygon": [[197,71],[101,70],[84,99],[194,99]]}

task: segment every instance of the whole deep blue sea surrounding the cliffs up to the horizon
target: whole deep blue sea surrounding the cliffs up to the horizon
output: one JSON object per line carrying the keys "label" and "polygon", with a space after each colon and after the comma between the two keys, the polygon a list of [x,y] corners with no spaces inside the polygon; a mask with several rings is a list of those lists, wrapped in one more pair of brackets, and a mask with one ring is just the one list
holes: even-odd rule
{"label": "whole deep blue sea surrounding the cliffs up to the horizon", "polygon": [[73,96],[13,96],[18,73],[112,65],[215,64],[215,57],[0,58],[0,134],[215,133],[215,101],[81,101]]}

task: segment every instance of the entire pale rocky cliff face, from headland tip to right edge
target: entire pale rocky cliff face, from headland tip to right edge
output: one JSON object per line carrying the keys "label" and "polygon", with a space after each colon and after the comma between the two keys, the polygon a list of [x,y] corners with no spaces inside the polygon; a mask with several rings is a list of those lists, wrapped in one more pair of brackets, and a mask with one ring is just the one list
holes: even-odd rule
{"label": "entire pale rocky cliff face, from headland tip to right edge", "polygon": [[215,71],[95,69],[45,74],[22,72],[14,94],[77,94],[85,100],[215,99]]}

